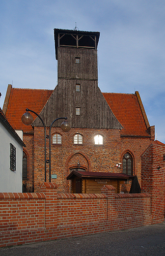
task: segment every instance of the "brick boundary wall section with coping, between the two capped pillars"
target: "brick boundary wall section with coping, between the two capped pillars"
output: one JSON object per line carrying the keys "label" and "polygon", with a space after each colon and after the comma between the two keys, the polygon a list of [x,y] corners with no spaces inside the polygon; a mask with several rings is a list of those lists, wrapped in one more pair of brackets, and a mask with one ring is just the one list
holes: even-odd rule
{"label": "brick boundary wall section with coping, between the two capped pillars", "polygon": [[85,224],[106,220],[106,195],[58,193],[57,225]]}

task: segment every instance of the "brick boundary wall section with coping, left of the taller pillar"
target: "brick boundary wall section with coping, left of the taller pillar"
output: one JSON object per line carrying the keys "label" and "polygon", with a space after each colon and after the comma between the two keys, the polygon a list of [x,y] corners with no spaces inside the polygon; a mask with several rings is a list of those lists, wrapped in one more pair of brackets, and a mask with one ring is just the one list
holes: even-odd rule
{"label": "brick boundary wall section with coping, left of the taller pillar", "polygon": [[44,227],[43,193],[0,193],[0,232]]}

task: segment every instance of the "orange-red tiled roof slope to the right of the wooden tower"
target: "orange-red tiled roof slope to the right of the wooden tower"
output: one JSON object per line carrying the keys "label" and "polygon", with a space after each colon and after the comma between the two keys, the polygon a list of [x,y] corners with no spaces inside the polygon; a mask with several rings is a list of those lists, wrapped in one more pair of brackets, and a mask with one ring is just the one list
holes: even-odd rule
{"label": "orange-red tiled roof slope to the right of the wooden tower", "polygon": [[103,93],[103,96],[123,126],[121,135],[149,136],[136,94]]}

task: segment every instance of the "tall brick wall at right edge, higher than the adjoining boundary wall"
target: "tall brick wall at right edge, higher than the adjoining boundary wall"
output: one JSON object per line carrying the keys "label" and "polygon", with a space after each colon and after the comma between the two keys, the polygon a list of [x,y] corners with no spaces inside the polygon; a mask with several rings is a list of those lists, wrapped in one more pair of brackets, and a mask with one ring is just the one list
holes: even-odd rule
{"label": "tall brick wall at right edge, higher than the adjoining boundary wall", "polygon": [[152,194],[152,224],[165,220],[165,146],[152,144],[141,157],[141,192]]}

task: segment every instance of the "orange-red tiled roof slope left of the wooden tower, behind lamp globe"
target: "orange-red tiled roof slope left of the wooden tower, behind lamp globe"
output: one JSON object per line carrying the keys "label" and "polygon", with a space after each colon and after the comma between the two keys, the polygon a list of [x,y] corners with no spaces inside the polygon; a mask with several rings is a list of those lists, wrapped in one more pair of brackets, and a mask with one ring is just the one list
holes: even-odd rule
{"label": "orange-red tiled roof slope left of the wooden tower, behind lamp globe", "polygon": [[[31,126],[22,123],[21,117],[29,108],[39,114],[53,93],[53,90],[11,88],[6,118],[15,130],[33,132]],[[36,116],[30,113],[35,120]]]}

